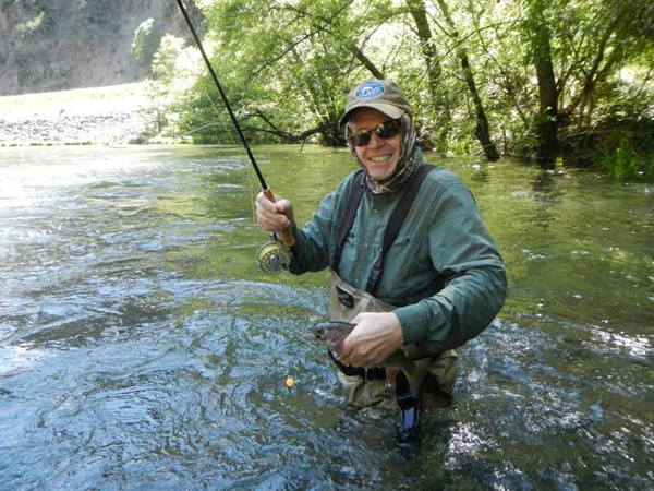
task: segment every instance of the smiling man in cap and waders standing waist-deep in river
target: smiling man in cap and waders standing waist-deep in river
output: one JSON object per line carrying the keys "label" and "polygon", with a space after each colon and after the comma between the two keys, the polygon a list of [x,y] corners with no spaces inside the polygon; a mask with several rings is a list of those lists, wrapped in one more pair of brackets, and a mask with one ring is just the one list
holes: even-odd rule
{"label": "smiling man in cap and waders standing waist-deep in river", "polygon": [[[421,383],[429,378],[451,393],[453,349],[499,311],[505,267],[465,184],[423,160],[411,107],[395,82],[356,86],[340,124],[361,170],[323,200],[302,230],[292,204],[279,196],[274,203],[259,193],[256,216],[269,231],[292,233],[291,273],[331,268],[330,320],[355,324],[340,352],[331,354],[348,402],[399,407],[398,435],[413,438],[420,412],[409,415],[400,400],[405,381],[393,387],[378,367],[403,349]],[[391,218],[396,208],[403,212]],[[385,244],[389,233],[395,237]],[[419,410],[419,400],[411,405]]]}

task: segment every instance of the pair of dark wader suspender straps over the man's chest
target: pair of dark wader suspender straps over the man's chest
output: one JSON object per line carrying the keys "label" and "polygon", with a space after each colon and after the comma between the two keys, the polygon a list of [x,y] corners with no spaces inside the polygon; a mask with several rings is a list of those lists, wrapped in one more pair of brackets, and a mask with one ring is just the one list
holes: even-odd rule
{"label": "pair of dark wader suspender straps over the man's chest", "polygon": [[[422,184],[423,179],[434,170],[435,167],[425,164],[420,166],[411,179],[407,183],[407,191],[404,195],[401,197],[397,207],[393,209],[388,224],[386,225],[386,230],[384,232],[384,244],[382,247],[382,253],[375,261],[373,265],[373,271],[371,272],[371,276],[368,277],[365,290],[374,295],[375,288],[377,287],[377,283],[382,277],[382,268],[384,265],[384,258],[386,256],[386,252],[390,249],[390,246],[395,242],[402,228],[402,224],[409,215],[409,211],[413,205],[413,201],[417,195],[417,191],[420,190],[420,185]],[[343,215],[343,220],[341,225],[341,230],[338,237],[338,242],[336,243],[336,251],[334,253],[334,261],[331,263],[331,268],[338,272],[338,265],[340,264],[341,254],[343,251],[343,246],[346,244],[346,240],[350,235],[350,230],[352,230],[352,226],[354,225],[354,218],[356,217],[356,211],[359,209],[359,204],[361,203],[361,199],[363,196],[365,183],[363,182],[364,173],[363,170],[359,170],[356,177],[354,177],[354,184],[352,187],[352,193],[350,194],[350,199],[348,201],[348,206],[346,208],[346,214]]]}

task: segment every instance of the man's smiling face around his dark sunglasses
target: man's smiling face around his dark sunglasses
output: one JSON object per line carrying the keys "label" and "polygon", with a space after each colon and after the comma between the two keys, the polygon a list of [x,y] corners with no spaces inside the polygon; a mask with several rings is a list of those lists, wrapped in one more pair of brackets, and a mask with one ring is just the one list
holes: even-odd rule
{"label": "man's smiling face around his dark sunglasses", "polygon": [[[374,130],[387,121],[390,121],[390,118],[385,113],[364,107],[358,109],[352,115],[348,125],[350,133],[356,133],[361,130]],[[368,171],[373,181],[384,181],[392,176],[400,158],[401,141],[401,132],[398,132],[398,134],[390,139],[384,140],[373,131],[367,145],[354,147],[359,159]]]}

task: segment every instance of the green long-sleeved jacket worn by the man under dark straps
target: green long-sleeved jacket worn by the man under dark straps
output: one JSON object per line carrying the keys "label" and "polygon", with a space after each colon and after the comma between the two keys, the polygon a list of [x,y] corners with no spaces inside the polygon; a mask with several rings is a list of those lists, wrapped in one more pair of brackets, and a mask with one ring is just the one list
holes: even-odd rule
{"label": "green long-sleeved jacket worn by the man under dark straps", "polygon": [[[424,165],[419,151],[417,165]],[[290,271],[302,274],[330,265],[355,172],[328,194],[300,230]],[[365,290],[382,250],[384,230],[403,190],[365,190],[337,273]],[[405,223],[386,254],[375,297],[398,308],[405,344],[429,352],[462,346],[495,318],[507,292],[495,242],[463,181],[437,167],[423,181]]]}

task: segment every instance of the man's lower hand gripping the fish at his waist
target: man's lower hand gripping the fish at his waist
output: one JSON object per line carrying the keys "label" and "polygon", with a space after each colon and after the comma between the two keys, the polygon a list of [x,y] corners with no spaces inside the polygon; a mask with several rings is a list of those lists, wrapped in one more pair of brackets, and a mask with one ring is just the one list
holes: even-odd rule
{"label": "man's lower hand gripping the fish at his waist", "polygon": [[400,320],[392,312],[364,312],[352,320],[356,327],[343,340],[340,358],[352,367],[377,367],[404,340]]}

